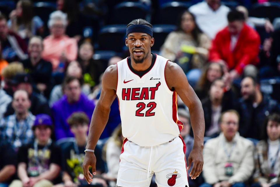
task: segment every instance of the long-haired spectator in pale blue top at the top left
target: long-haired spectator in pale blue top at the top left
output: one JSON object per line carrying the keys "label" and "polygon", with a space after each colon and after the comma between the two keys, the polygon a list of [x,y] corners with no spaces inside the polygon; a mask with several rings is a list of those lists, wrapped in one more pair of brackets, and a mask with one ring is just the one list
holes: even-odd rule
{"label": "long-haired spectator in pale blue top at the top left", "polygon": [[38,16],[33,16],[33,4],[30,0],[20,0],[16,9],[10,13],[8,27],[23,39],[43,35],[44,23]]}

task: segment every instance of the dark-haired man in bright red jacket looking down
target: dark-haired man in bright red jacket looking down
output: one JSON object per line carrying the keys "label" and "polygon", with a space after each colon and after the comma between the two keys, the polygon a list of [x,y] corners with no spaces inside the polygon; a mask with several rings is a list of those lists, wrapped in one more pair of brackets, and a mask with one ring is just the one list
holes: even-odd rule
{"label": "dark-haired man in bright red jacket looking down", "polygon": [[231,11],[227,15],[228,26],[218,32],[212,41],[209,60],[224,61],[231,79],[237,78],[246,65],[259,62],[260,36],[245,23],[244,14]]}

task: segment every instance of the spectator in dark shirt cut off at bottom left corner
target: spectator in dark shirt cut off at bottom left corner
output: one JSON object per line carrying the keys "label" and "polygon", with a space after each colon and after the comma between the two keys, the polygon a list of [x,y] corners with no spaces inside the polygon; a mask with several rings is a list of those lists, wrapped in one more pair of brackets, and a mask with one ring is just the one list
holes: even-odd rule
{"label": "spectator in dark shirt cut off at bottom left corner", "polygon": [[8,187],[16,172],[16,153],[5,140],[0,141],[0,187]]}

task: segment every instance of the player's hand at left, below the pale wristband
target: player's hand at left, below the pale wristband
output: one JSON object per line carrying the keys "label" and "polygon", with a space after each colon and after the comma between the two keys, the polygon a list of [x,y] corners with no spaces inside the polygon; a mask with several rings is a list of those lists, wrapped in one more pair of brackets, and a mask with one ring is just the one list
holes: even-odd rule
{"label": "player's hand at left, below the pale wristband", "polygon": [[[84,158],[84,163],[83,163],[83,171],[84,171],[84,177],[85,180],[90,184],[92,182],[92,174],[96,174],[96,169],[95,169],[95,164],[96,164],[96,157],[93,152],[85,152],[85,158]],[[89,172],[88,168],[92,167],[92,174]]]}

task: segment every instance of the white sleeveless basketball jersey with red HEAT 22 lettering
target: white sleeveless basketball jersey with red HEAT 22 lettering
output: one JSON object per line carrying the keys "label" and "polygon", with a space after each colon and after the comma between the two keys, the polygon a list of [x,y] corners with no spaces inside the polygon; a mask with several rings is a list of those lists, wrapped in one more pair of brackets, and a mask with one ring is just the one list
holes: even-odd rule
{"label": "white sleeveless basketball jersey with red HEAT 22 lettering", "polygon": [[166,143],[183,128],[178,120],[177,93],[165,81],[167,61],[157,55],[152,69],[141,78],[130,70],[128,58],[117,63],[122,135],[139,146]]}

